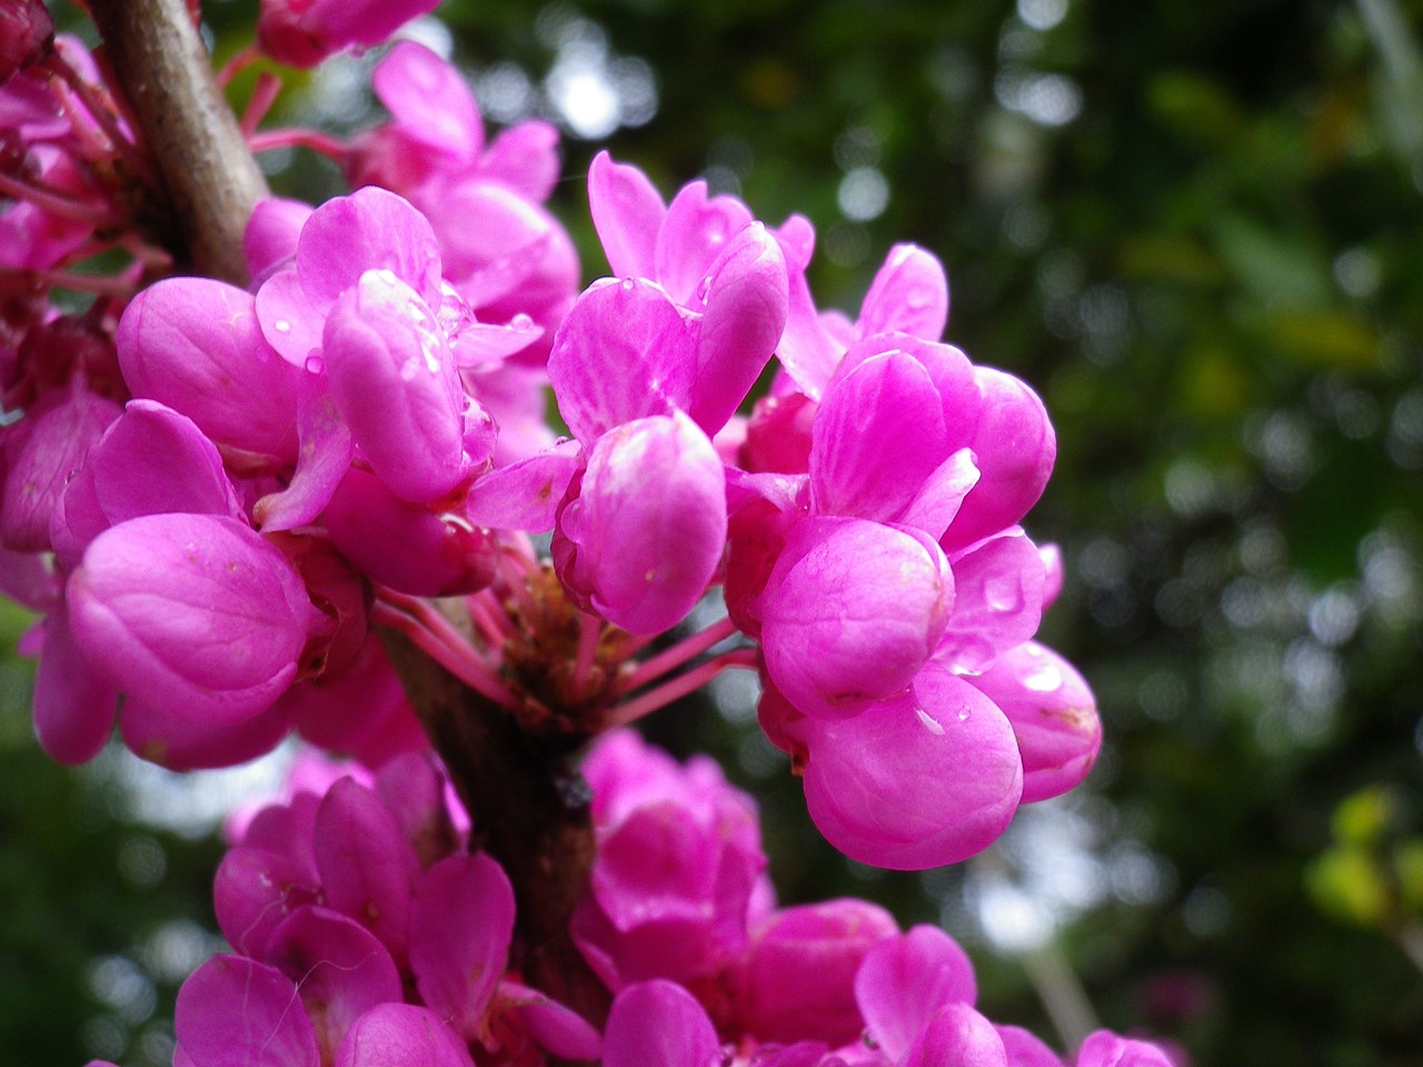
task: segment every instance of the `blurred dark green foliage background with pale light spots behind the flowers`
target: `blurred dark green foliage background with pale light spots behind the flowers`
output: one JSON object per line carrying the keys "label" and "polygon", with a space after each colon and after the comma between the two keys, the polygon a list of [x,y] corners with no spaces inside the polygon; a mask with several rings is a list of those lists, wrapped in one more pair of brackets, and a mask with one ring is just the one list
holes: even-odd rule
{"label": "blurred dark green foliage background with pale light spots behind the flowers", "polygon": [[[250,4],[205,11],[219,54],[245,43]],[[1104,1023],[1197,1064],[1423,1064],[1423,4],[438,14],[508,117],[556,117],[549,71],[578,48],[625,95],[650,75],[655,114],[565,142],[555,209],[588,277],[606,267],[579,175],[608,145],[667,192],[706,175],[768,221],[808,215],[822,306],[854,312],[895,240],[928,246],[949,272],[948,340],[1053,414],[1059,465],[1029,531],[1062,545],[1069,583],[1044,633],[1107,730],[1046,824],[1074,828],[1074,848],[1046,871],[1025,835],[966,869],[855,868],[744,707],[659,716],[649,733],[716,751],[763,800],[783,896],[942,920],[979,965],[982,1007],[1044,1034],[1029,976],[1062,987],[1043,967],[1066,959]],[[290,87],[279,118],[374,121],[357,90]],[[333,188],[317,161],[276,162],[279,188]],[[213,846],[114,821],[101,775],[44,764],[6,670],[0,1058],[81,1063],[110,1020],[124,1047],[105,1054],[159,1061],[172,982],[144,946],[164,922],[211,923]],[[157,882],[115,874],[132,835],[164,851]],[[986,933],[985,886],[1007,879],[1040,912],[1083,864],[1090,892],[1056,913],[1054,947],[1025,959]],[[149,1014],[95,994],[112,992],[95,957],[147,967]]]}

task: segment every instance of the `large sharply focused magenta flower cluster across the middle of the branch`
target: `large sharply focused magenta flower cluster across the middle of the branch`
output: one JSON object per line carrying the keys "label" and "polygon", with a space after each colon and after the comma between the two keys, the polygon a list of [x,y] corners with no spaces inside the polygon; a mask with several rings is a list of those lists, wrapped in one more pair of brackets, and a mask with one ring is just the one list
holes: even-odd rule
{"label": "large sharply focused magenta flower cluster across the middle of the branch", "polygon": [[[487,144],[410,41],[374,81],[390,121],[333,149],[361,188],[262,202],[250,287],[166,277],[17,331],[0,535],[7,588],[47,612],[28,647],[53,755],[90,758],[118,694],[125,743],[174,768],[293,727],[371,763],[420,747],[380,623],[583,737],[756,666],[814,821],[869,864],[962,859],[1081,780],[1094,703],[1032,642],[1060,568],[1017,525],[1052,425],[938,340],[929,253],[895,248],[855,322],[821,313],[805,219],[703,182],[669,203],[602,154],[615,277],[575,294],[542,206],[552,129]],[[726,622],[635,659],[716,585]],[[659,681],[734,632],[754,649]]]}

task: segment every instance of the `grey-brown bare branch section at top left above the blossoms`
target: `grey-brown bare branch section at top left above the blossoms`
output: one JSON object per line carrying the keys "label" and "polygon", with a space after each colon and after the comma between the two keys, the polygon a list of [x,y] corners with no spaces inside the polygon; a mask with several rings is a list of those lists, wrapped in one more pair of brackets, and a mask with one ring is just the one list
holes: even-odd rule
{"label": "grey-brown bare branch section at top left above the blossoms", "polygon": [[[266,181],[212,75],[186,0],[90,0],[114,75],[158,164],[185,248],[175,259],[248,280],[242,230]],[[186,253],[186,255],[184,255]]]}

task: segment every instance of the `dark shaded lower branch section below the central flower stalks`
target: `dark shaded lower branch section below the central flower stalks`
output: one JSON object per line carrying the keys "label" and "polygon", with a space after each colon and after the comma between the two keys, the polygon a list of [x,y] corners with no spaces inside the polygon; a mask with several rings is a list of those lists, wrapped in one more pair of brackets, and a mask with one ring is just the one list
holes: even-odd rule
{"label": "dark shaded lower branch section below the central flower stalks", "polygon": [[381,630],[381,640],[470,809],[471,846],[498,859],[514,883],[524,976],[602,1029],[608,990],[569,933],[573,906],[588,891],[593,828],[566,744],[525,734],[404,635]]}

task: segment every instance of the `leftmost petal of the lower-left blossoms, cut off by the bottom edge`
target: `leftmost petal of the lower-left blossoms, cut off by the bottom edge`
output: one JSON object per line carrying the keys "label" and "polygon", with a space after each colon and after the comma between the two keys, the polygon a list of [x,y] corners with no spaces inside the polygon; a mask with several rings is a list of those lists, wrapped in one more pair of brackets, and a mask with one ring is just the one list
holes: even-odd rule
{"label": "leftmost petal of the lower-left blossoms, cut off by the bottom edge", "polygon": [[293,982],[242,956],[213,956],[178,990],[178,1049],[194,1067],[317,1067],[316,1031]]}

